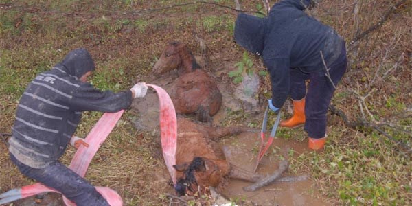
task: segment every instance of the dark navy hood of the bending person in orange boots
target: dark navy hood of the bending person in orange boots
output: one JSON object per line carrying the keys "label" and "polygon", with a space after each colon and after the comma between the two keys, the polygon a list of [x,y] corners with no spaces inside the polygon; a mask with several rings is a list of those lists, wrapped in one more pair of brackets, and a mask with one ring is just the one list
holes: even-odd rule
{"label": "dark navy hood of the bending person in orange boots", "polygon": [[249,52],[262,55],[266,19],[249,14],[239,14],[235,23],[235,41]]}

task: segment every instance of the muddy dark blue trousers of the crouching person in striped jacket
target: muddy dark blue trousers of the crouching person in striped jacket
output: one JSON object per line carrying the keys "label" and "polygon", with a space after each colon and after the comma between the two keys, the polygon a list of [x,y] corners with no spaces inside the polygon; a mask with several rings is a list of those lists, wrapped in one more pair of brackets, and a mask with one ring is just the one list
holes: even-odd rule
{"label": "muddy dark blue trousers of the crouching person in striped jacket", "polygon": [[95,190],[93,185],[59,161],[37,169],[21,163],[12,154],[10,154],[10,159],[25,176],[54,188],[78,206],[108,206],[106,199]]}

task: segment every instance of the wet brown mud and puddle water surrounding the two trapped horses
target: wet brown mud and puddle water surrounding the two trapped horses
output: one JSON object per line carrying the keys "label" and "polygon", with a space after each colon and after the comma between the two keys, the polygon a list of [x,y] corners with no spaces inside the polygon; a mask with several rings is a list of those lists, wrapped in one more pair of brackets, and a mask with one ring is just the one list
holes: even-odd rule
{"label": "wet brown mud and puddle water surrounding the two trapped horses", "polygon": [[[215,73],[216,76],[220,77],[222,76],[221,74],[222,73],[220,72]],[[161,80],[153,80],[153,82],[148,83],[157,84],[167,91],[169,88],[168,84],[172,82],[172,78],[167,76],[174,75],[175,73],[172,71],[163,76]],[[251,87],[249,87],[250,85],[246,85],[246,87],[258,89],[255,87],[258,82],[248,81],[253,85]],[[262,105],[257,105],[255,100],[248,100],[248,95],[242,95],[242,100],[237,98],[239,92],[245,87],[244,84],[239,84],[235,87],[230,82],[224,80],[217,80],[217,82],[223,95],[223,103],[220,111],[214,115],[212,124],[216,126],[220,125],[220,122],[225,119],[228,109],[231,111],[243,109],[244,111],[252,113],[257,118],[261,119],[263,117],[264,108],[262,108]],[[248,93],[251,94],[253,91],[251,92],[249,90]],[[253,94],[249,95],[249,98],[252,97]],[[146,95],[145,98],[136,99],[133,102],[132,108],[138,113],[138,117],[135,119],[136,128],[159,135],[159,101],[157,100],[157,95],[154,92],[148,92],[148,95]],[[268,130],[270,130],[270,128],[268,128]],[[222,148],[225,148],[225,153],[227,153],[227,160],[229,160],[229,162],[242,169],[249,171],[253,170],[258,148],[260,146],[260,135],[258,133],[242,133],[237,136],[221,139],[218,144]],[[306,141],[286,141],[282,138],[276,138],[273,141],[271,148],[266,152],[266,156],[263,157],[260,162],[256,172],[259,174],[273,173],[277,170],[279,162],[281,161],[281,157],[279,156],[281,156],[286,148],[293,150],[293,153],[296,156],[297,154],[301,154],[301,152],[308,150],[306,144]],[[280,150],[276,148],[280,148]],[[274,149],[277,151],[275,154],[273,154]],[[159,173],[156,175],[158,179],[170,179],[166,170]],[[282,177],[300,175],[304,174],[291,174],[290,172],[285,172]],[[245,200],[248,203],[258,205],[331,205],[321,196],[316,185],[314,185],[310,178],[304,181],[271,183],[255,192],[245,192],[242,189],[248,185],[251,185],[251,183],[229,179],[225,187],[219,192],[227,199]],[[168,192],[174,194],[172,188],[170,188]]]}

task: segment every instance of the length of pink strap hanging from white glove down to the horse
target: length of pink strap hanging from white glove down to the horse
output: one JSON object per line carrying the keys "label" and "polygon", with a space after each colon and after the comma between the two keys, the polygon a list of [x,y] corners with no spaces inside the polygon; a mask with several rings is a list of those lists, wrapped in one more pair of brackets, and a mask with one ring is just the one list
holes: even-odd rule
{"label": "length of pink strap hanging from white glove down to the horse", "polygon": [[169,170],[174,185],[176,185],[176,170],[173,168],[173,165],[176,165],[176,111],[174,110],[170,96],[164,89],[153,84],[148,84],[148,86],[155,89],[159,96],[161,148],[163,150],[163,158],[165,159],[166,167]]}

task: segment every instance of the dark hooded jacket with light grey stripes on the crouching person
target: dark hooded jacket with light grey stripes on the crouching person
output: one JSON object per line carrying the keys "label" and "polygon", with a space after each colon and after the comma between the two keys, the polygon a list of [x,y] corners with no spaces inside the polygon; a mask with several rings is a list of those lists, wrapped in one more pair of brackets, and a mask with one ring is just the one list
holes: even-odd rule
{"label": "dark hooded jacket with light grey stripes on the crouching person", "polygon": [[9,140],[9,151],[16,159],[32,168],[44,168],[65,152],[82,111],[116,112],[130,106],[130,90],[100,91],[78,80],[93,69],[89,53],[78,49],[30,82]]}

